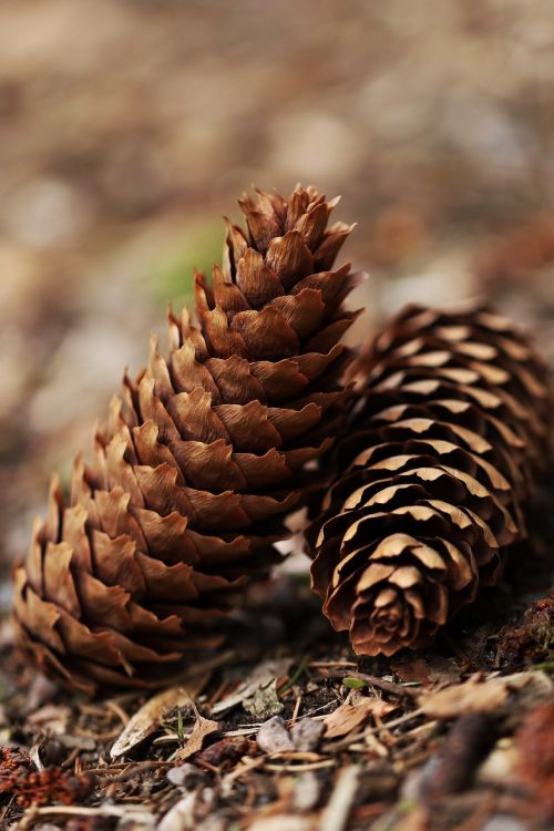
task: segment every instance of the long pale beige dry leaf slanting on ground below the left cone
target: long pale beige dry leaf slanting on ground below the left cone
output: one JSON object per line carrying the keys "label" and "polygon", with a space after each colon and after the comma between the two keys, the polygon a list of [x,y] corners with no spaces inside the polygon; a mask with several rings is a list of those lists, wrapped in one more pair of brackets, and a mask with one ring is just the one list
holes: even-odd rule
{"label": "long pale beige dry leaf slanting on ground below the left cone", "polygon": [[148,699],[132,716],[112,747],[110,751],[112,759],[124,756],[131,748],[143,741],[154,730],[157,730],[165,715],[174,707],[192,708],[193,699],[202,693],[209,679],[209,673],[204,673],[186,684],[182,684],[178,687],[171,687]]}

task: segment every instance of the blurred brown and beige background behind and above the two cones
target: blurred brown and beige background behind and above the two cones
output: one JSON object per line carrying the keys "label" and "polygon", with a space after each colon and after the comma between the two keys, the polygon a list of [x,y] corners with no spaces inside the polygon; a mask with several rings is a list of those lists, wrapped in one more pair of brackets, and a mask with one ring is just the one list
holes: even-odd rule
{"label": "blurred brown and beige background behind and above the two cones", "polygon": [[355,339],[486,295],[554,358],[553,140],[552,0],[3,0],[4,574],[250,183],[342,194]]}

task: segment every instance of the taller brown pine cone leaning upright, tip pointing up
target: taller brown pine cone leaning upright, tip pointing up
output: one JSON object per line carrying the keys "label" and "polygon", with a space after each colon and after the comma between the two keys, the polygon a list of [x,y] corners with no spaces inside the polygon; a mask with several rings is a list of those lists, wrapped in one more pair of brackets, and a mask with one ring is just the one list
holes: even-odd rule
{"label": "taller brown pine cone leaning upright, tip pointing up", "polygon": [[335,204],[312,187],[245,196],[248,232],[228,223],[213,286],[196,275],[199,327],[170,314],[168,358],[154,340],[125,377],[68,505],[54,480],[14,575],[20,642],[42,669],[86,691],[156,686],[218,644],[214,620],[267,572],[300,471],[345,410],[356,277],[330,270],[350,232],[326,230]]}

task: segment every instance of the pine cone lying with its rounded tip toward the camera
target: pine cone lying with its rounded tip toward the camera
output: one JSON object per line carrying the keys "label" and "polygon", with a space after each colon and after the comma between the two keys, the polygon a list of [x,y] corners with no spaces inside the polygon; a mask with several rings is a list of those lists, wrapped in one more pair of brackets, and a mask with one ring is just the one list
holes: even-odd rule
{"label": "pine cone lying with its rounded tip toward the camera", "polygon": [[548,449],[548,380],[525,338],[486,309],[408,307],[358,369],[340,472],[308,534],[312,583],[358,654],[392,655],[429,645],[525,535]]}

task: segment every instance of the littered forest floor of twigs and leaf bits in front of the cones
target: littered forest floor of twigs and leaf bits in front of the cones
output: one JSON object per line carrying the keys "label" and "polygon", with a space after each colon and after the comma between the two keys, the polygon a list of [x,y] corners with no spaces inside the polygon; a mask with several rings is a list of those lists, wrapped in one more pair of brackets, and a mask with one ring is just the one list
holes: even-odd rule
{"label": "littered forest floor of twigs and leaf bits in front of the cones", "polygon": [[360,659],[304,581],[268,592],[232,649],[155,696],[63,691],[6,624],[0,828],[553,827],[554,595],[495,589],[433,648]]}

